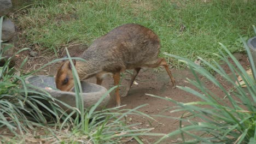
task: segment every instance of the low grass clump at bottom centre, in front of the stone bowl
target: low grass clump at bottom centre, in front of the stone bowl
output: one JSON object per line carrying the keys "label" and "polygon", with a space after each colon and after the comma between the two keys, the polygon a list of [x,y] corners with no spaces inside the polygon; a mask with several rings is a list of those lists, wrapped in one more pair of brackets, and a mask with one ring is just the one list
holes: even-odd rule
{"label": "low grass clump at bottom centre, in front of the stone bowl", "polygon": [[140,115],[150,118],[148,115],[137,111],[141,105],[132,110],[118,110],[116,108],[102,111],[85,111],[84,122],[75,124],[72,133],[78,140],[89,143],[124,143],[135,139],[143,143],[141,136],[164,136],[164,134],[151,133],[153,128],[137,129],[137,124],[127,124],[127,115]]}

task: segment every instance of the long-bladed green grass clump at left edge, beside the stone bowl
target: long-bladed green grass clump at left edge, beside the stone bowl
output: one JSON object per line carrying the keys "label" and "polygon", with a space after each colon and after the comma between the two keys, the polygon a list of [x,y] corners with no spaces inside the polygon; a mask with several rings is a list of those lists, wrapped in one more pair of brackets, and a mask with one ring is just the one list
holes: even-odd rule
{"label": "long-bladed green grass clump at left edge, beside the stone bowl", "polygon": [[[3,17],[0,19],[0,29],[2,29],[2,20]],[[0,39],[1,35],[2,31],[0,31]],[[1,46],[2,41],[0,41],[0,60],[5,59],[3,52],[12,45],[5,44],[4,49]],[[17,53],[24,50],[26,49],[21,49]],[[34,91],[33,86],[25,82],[28,75],[13,73],[14,68],[9,68],[11,58],[13,57],[8,58],[3,67],[0,67],[0,127],[19,135],[36,125],[43,127],[64,118],[65,115],[61,116],[65,112],[54,102],[51,95]],[[20,66],[22,67],[22,64]]]}

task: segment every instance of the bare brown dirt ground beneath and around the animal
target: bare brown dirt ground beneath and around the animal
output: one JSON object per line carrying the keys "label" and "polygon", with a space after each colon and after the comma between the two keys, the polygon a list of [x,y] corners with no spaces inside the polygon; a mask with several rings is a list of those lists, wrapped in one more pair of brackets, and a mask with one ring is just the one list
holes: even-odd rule
{"label": "bare brown dirt ground beneath and around the animal", "polygon": [[[73,46],[69,48],[69,53],[71,53],[72,56],[79,56],[79,53],[83,52],[84,46]],[[60,57],[62,55],[65,55],[65,52],[60,52]],[[22,52],[20,53],[18,57],[18,61],[16,62],[16,65],[19,65],[22,62],[22,59],[24,59],[28,55],[28,52]],[[235,54],[236,58],[240,61],[240,63],[247,68],[249,65],[247,56],[242,53]],[[39,53],[38,57],[28,57],[28,62],[25,64],[24,70],[30,71],[33,69],[37,69],[39,67],[42,67],[43,64],[50,62],[51,60],[55,59],[55,56],[45,56],[43,53]],[[55,75],[56,69],[58,68],[59,63],[55,63],[52,65],[49,65],[49,67],[46,67],[43,71],[39,71],[38,75]],[[223,65],[223,68],[227,71],[227,73],[230,73],[228,70],[228,67],[226,65]],[[188,86],[192,87],[186,80],[186,78],[193,79],[193,75],[190,73],[189,70],[176,70],[171,69],[173,76],[176,79],[177,86]],[[121,82],[121,85],[126,85],[129,81],[130,74],[126,73],[125,77],[123,77],[123,80]],[[201,80],[205,83],[205,86],[209,89],[212,89],[212,92],[219,95],[220,98],[224,97],[224,94],[222,91],[220,91],[216,86],[214,86],[210,81],[206,80],[202,76],[200,76]],[[225,82],[222,80],[222,77],[219,75],[216,75],[216,79],[218,79],[221,83],[223,83],[223,86],[227,89],[231,88],[229,86],[228,82]],[[95,78],[91,78],[89,80],[86,80],[92,83],[96,83]],[[174,100],[180,101],[182,103],[187,103],[190,101],[200,101],[200,98],[197,98],[194,95],[188,94],[187,92],[182,91],[179,88],[172,89],[170,78],[168,77],[166,71],[164,69],[160,69],[158,72],[153,69],[142,69],[136,79],[136,82],[138,85],[133,85],[129,94],[127,97],[121,97],[121,104],[126,105],[124,109],[133,109],[137,106],[148,104],[147,106],[142,107],[139,109],[139,111],[147,113],[148,115],[164,115],[164,116],[170,116],[170,117],[180,117],[182,115],[182,112],[177,113],[170,113],[171,110],[170,107],[176,106],[170,101],[162,100],[159,98],[150,97],[147,94],[154,94],[158,95],[160,97],[168,97],[172,98]],[[104,79],[103,86],[107,89],[113,86],[113,80],[112,77],[107,77],[107,79]],[[121,90],[124,87],[121,87]],[[122,93],[122,91],[121,91]],[[110,101],[109,107],[115,106],[115,100],[114,100],[114,94],[112,93],[113,100]],[[224,99],[227,103],[228,100]],[[149,120],[148,118],[145,118],[143,116],[127,116],[127,119],[129,119],[129,123],[139,123],[139,125],[136,128],[154,128],[151,132],[152,133],[170,133],[173,130],[176,130],[179,128],[179,122],[177,122],[174,119],[171,118],[164,118],[164,117],[154,117],[157,122],[154,122],[152,120]],[[199,120],[200,121],[200,120]],[[144,143],[153,143],[156,140],[157,137],[154,136],[144,136],[142,139],[144,140]],[[177,142],[179,139],[179,136],[177,137],[170,137],[170,139],[166,140],[162,143],[174,143]],[[130,140],[127,143],[136,143],[135,140]]]}

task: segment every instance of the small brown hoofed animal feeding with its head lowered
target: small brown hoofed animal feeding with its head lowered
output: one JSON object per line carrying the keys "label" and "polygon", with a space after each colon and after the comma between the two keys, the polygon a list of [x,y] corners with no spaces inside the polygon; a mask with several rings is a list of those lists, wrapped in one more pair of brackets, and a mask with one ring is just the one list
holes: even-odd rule
{"label": "small brown hoofed animal feeding with its head lowered", "polygon": [[[80,80],[96,76],[97,85],[101,85],[105,74],[112,73],[114,85],[119,85],[120,73],[134,69],[126,92],[129,92],[139,70],[143,67],[156,68],[164,66],[176,87],[174,77],[164,58],[159,58],[160,40],[152,30],[137,24],[125,24],[96,39],[80,55],[86,61],[73,61]],[[61,91],[70,91],[74,87],[72,67],[69,61],[61,64],[55,78],[56,86]],[[116,102],[120,106],[119,88],[115,90]]]}

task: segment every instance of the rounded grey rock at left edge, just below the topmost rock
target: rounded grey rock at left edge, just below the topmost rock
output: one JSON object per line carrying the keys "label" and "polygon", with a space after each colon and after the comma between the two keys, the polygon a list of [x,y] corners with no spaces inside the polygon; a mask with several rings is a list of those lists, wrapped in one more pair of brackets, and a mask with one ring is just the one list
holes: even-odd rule
{"label": "rounded grey rock at left edge, just below the topmost rock", "polygon": [[[1,1],[1,0],[0,0]],[[15,35],[15,25],[10,20],[5,18],[2,25],[2,40],[9,41]]]}

